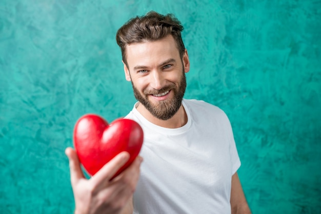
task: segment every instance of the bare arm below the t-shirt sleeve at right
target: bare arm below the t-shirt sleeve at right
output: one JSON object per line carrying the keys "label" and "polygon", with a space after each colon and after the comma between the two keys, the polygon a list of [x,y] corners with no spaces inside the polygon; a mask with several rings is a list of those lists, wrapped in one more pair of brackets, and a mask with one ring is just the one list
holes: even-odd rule
{"label": "bare arm below the t-shirt sleeve at right", "polygon": [[242,185],[237,173],[232,176],[231,186],[231,211],[232,214],[251,214],[250,207],[246,201]]}

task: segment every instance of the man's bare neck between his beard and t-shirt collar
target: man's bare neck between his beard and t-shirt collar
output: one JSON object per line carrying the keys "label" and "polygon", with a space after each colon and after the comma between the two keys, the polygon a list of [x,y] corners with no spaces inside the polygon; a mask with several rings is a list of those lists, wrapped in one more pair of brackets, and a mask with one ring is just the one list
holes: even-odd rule
{"label": "man's bare neck between his beard and t-shirt collar", "polygon": [[180,108],[178,109],[176,114],[168,120],[161,120],[156,118],[141,103],[138,104],[137,111],[151,123],[168,129],[176,129],[182,127],[187,123],[187,114],[183,105],[180,105]]}

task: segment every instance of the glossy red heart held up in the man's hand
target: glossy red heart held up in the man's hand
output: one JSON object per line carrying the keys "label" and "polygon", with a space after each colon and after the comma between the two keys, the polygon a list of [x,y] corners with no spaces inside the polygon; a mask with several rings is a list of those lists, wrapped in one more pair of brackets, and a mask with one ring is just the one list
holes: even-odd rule
{"label": "glossy red heart held up in the man's hand", "polygon": [[127,163],[113,176],[119,175],[137,157],[143,145],[143,129],[130,119],[117,119],[112,123],[94,114],[78,119],[73,140],[79,161],[87,173],[94,175],[117,154],[130,154]]}

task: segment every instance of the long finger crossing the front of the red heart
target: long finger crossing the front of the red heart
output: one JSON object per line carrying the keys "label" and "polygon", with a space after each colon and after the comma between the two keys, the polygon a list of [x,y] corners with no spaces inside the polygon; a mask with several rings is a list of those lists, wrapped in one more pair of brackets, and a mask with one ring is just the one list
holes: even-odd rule
{"label": "long finger crossing the front of the red heart", "polygon": [[99,169],[99,171],[91,178],[91,180],[96,185],[106,180],[109,181],[118,172],[118,170],[125,165],[125,163],[129,160],[129,157],[130,155],[128,152],[119,153],[101,169]]}

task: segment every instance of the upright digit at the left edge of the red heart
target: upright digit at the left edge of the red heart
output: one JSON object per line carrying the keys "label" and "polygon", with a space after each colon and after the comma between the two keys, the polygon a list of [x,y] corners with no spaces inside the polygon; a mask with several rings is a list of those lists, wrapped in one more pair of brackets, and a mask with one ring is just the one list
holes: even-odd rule
{"label": "upright digit at the left edge of the red heart", "polygon": [[69,159],[70,181],[75,186],[78,180],[85,178],[76,151],[71,147],[66,148],[65,154]]}

